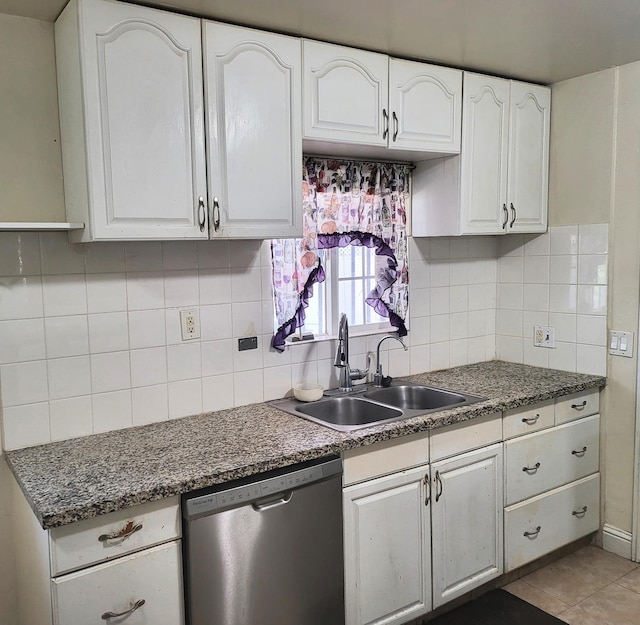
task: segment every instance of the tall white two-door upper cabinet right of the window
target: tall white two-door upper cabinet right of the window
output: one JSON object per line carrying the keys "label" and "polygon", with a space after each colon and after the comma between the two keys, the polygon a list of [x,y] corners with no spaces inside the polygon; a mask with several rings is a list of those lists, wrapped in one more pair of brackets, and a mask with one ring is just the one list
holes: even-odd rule
{"label": "tall white two-door upper cabinet right of the window", "polygon": [[551,91],[465,73],[462,151],[419,163],[413,236],[545,232]]}

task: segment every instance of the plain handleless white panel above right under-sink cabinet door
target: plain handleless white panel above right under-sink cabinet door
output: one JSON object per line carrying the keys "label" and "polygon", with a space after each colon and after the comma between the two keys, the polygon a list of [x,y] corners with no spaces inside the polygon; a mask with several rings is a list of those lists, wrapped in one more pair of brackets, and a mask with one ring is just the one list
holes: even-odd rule
{"label": "plain handleless white panel above right under-sink cabinet door", "polygon": [[502,440],[502,416],[495,413],[431,430],[431,462]]}

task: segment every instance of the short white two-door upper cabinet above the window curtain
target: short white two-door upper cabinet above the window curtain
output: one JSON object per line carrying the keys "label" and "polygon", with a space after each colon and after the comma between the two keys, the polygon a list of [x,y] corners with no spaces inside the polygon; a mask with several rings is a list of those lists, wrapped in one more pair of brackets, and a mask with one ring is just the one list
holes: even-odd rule
{"label": "short white two-door upper cabinet above the window curtain", "polygon": [[305,40],[303,50],[308,151],[381,156],[390,149],[412,158],[460,152],[459,70],[316,41]]}

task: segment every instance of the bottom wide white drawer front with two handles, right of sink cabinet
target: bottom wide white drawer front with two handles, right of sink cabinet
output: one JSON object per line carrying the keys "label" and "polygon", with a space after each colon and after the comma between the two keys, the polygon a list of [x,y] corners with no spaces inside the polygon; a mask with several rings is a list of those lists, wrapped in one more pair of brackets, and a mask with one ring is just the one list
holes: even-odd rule
{"label": "bottom wide white drawer front with two handles, right of sink cabinet", "polygon": [[505,573],[599,527],[598,473],[505,508]]}

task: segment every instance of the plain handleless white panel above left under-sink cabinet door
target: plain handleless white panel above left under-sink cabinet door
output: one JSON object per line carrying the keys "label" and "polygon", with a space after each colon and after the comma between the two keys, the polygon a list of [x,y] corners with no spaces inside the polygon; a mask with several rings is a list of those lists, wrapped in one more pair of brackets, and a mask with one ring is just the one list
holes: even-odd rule
{"label": "plain handleless white panel above left under-sink cabinet door", "polygon": [[343,484],[356,484],[374,477],[403,471],[429,462],[429,435],[412,434],[370,447],[349,449],[342,454]]}

